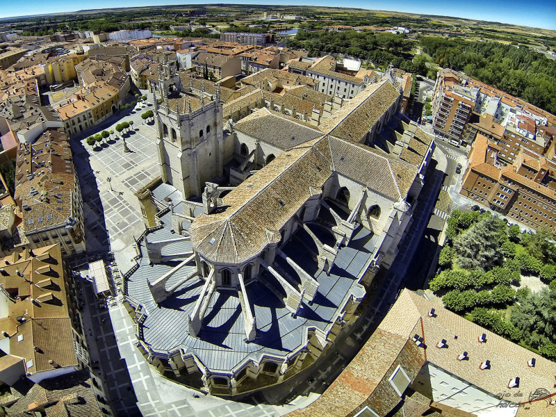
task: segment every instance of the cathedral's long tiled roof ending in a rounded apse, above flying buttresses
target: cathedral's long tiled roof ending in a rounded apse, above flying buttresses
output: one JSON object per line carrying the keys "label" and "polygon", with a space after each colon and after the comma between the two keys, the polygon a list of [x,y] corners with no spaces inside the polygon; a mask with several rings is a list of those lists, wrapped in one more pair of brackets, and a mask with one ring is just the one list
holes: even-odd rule
{"label": "cathedral's long tiled roof ending in a rounded apse, above flying buttresses", "polygon": [[332,174],[314,142],[290,149],[223,198],[224,210],[198,215],[195,250],[214,263],[243,263],[280,240],[279,229]]}

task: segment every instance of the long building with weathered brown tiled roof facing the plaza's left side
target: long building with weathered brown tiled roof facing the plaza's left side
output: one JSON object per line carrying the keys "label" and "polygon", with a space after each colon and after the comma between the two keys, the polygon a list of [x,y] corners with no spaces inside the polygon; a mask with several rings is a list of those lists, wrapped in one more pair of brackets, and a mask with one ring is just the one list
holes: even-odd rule
{"label": "long building with weathered brown tiled roof facing the plaza's left side", "polygon": [[22,213],[20,245],[60,245],[63,255],[85,252],[83,201],[63,129],[47,129],[33,144],[20,144],[15,202]]}

